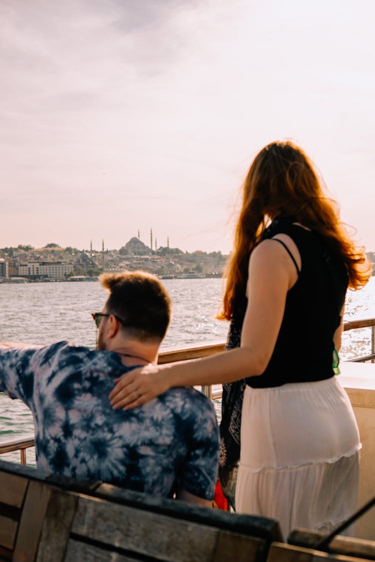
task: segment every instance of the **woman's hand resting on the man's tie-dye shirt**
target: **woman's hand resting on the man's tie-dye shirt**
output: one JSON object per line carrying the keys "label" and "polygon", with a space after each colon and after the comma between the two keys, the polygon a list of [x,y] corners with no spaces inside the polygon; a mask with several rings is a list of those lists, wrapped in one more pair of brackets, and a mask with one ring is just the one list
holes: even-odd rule
{"label": "woman's hand resting on the man's tie-dye shirt", "polygon": [[162,369],[155,365],[145,365],[115,379],[115,388],[109,395],[111,406],[118,410],[131,410],[156,398],[170,387],[163,376]]}

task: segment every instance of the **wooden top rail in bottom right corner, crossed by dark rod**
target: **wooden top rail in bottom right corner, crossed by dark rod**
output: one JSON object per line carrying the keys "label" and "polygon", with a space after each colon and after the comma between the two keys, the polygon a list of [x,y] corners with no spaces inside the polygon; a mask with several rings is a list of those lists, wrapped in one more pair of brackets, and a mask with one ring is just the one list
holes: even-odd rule
{"label": "wooden top rail in bottom right corner, crossed by dark rod", "polygon": [[[325,533],[308,531],[307,529],[296,529],[296,531],[290,534],[288,542],[291,545],[315,549],[325,536]],[[329,549],[327,550],[335,554],[375,560],[375,542],[367,541],[363,538],[343,537],[338,535],[329,543]]]}

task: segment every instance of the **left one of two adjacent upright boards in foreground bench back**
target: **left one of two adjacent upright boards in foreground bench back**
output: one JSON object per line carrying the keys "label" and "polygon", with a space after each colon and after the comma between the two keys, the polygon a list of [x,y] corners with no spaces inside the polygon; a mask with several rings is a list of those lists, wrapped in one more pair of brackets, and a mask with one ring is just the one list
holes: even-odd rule
{"label": "left one of two adjacent upright boards in foreground bench back", "polygon": [[34,561],[50,495],[50,486],[30,482],[22,509],[14,560]]}

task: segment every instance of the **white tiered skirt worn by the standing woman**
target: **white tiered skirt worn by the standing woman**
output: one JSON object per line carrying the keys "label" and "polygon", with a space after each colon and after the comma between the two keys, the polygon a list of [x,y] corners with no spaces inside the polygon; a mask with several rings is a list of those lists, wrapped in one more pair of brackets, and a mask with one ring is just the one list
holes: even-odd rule
{"label": "white tiered skirt worn by the standing woman", "polygon": [[236,511],[277,519],[284,538],[329,532],[356,509],[359,432],[337,377],[246,387]]}

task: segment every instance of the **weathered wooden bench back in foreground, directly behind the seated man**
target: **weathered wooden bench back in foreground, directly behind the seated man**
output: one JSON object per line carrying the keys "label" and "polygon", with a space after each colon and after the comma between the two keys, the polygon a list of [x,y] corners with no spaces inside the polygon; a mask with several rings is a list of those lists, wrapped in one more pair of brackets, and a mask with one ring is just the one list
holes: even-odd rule
{"label": "weathered wooden bench back in foreground, directly behind the seated man", "polygon": [[265,562],[273,519],[165,500],[0,461],[0,559]]}

